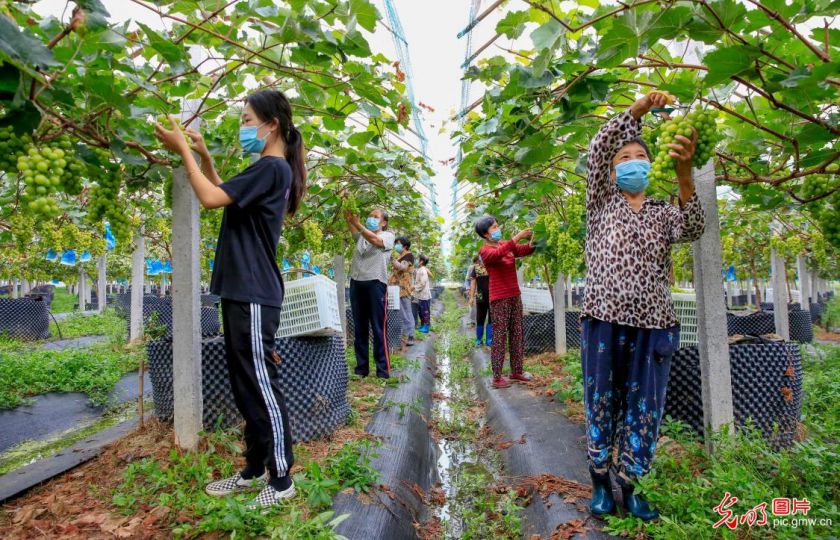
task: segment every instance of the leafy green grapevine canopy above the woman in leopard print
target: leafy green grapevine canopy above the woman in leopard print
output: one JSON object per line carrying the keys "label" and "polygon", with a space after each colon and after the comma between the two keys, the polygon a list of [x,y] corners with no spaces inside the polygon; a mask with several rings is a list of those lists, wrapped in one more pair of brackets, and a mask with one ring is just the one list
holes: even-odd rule
{"label": "leafy green grapevine canopy above the woman in leopard print", "polygon": [[505,3],[494,42],[518,47],[489,49],[500,52],[466,72],[486,88],[460,112],[466,122],[456,134],[457,174],[476,184],[469,209],[529,223],[567,212],[598,128],[660,89],[681,106],[717,112],[720,184],[745,204],[805,212],[814,233],[840,247],[831,217],[840,208],[837,2],[587,0],[561,8],[568,5]]}

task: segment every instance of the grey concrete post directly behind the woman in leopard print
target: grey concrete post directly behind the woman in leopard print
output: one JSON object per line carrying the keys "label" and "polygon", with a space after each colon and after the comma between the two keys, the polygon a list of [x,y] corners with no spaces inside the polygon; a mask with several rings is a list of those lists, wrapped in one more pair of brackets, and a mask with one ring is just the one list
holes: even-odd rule
{"label": "grey concrete post directly behind the woman in leopard print", "polygon": [[708,162],[692,171],[697,195],[706,214],[706,230],[694,242],[694,286],[697,293],[697,334],[703,395],[706,448],[713,450],[712,433],[733,429],[732,377],[726,303],[721,287],[720,220],[718,218],[715,169]]}

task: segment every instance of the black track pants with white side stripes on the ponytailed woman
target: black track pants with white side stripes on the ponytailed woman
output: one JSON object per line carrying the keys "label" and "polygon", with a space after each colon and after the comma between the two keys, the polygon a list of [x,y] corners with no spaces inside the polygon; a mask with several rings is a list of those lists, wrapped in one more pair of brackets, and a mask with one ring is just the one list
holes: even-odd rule
{"label": "black track pants with white side stripes on the ponytailed woman", "polygon": [[294,463],[289,412],[280,389],[274,335],[280,308],[222,299],[225,353],[233,397],[245,418],[245,459],[272,478]]}

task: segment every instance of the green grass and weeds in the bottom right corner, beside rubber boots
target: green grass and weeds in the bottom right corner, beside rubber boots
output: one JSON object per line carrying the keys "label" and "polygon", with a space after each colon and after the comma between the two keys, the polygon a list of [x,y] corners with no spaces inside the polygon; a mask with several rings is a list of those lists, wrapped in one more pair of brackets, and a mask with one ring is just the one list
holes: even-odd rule
{"label": "green grass and weeds in the bottom right corner, beside rubber boots", "polygon": [[[633,537],[653,538],[829,538],[833,529],[812,527],[770,528],[739,526],[712,529],[719,519],[712,509],[726,491],[738,497],[733,507],[742,515],[775,497],[807,498],[808,518],[840,522],[840,348],[825,347],[823,359],[803,356],[802,421],[809,436],[789,449],[769,448],[757,431],[720,434],[716,452],[709,456],[696,434],[666,421],[663,434],[673,442],[661,443],[650,474],[639,482],[649,500],[665,518],[644,524],[634,518],[608,518],[609,529]],[[664,439],[662,441],[665,441]],[[798,516],[803,517],[803,516]],[[768,519],[774,518],[768,511]],[[741,536],[738,536],[736,532]]]}

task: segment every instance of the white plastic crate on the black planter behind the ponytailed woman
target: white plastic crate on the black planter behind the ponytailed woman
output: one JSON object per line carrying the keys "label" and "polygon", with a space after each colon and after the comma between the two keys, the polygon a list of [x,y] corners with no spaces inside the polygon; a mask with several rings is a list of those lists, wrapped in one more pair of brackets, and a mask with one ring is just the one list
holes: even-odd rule
{"label": "white plastic crate on the black planter behind the ponytailed woman", "polygon": [[335,282],[323,275],[285,282],[277,337],[341,334]]}

